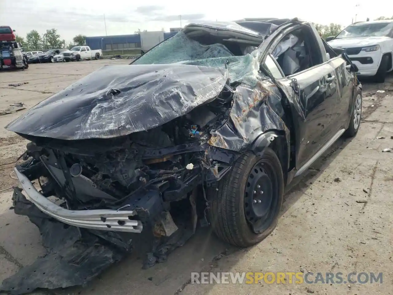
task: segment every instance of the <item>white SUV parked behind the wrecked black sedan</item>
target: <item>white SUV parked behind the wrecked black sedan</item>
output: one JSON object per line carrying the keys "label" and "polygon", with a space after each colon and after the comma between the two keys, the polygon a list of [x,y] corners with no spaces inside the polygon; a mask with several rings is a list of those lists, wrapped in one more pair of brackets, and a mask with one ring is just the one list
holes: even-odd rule
{"label": "white SUV parked behind the wrecked black sedan", "polygon": [[359,68],[359,76],[374,76],[382,83],[393,70],[393,20],[356,22],[326,41],[345,50]]}

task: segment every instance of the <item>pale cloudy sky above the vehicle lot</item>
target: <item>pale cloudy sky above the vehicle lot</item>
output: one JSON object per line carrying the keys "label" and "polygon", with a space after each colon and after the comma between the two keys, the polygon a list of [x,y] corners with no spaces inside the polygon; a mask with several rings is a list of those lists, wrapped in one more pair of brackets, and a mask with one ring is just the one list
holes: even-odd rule
{"label": "pale cloudy sky above the vehicle lot", "polygon": [[[246,17],[299,17],[311,22],[346,26],[357,13],[357,20],[393,15],[393,1],[162,1],[162,0],[0,0],[0,25],[9,25],[16,33],[37,30],[40,34],[55,28],[67,42],[77,34],[86,36],[133,34],[157,31],[204,20],[229,21]],[[181,3],[181,4],[180,4]],[[259,4],[260,3],[260,4]],[[337,3],[337,4],[336,4]],[[355,7],[359,4],[358,7]],[[20,8],[20,9],[19,9]],[[386,15],[387,14],[387,15]]]}

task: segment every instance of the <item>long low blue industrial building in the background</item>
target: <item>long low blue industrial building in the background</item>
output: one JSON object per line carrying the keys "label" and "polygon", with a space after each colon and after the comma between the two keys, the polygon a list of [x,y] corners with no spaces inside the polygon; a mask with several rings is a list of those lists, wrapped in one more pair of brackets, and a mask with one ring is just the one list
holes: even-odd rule
{"label": "long low blue industrial building in the background", "polygon": [[[164,39],[172,37],[177,32],[164,32]],[[86,45],[91,49],[101,49],[103,51],[113,50],[132,50],[141,49],[141,36],[132,35],[115,35],[115,36],[98,36],[86,37]]]}

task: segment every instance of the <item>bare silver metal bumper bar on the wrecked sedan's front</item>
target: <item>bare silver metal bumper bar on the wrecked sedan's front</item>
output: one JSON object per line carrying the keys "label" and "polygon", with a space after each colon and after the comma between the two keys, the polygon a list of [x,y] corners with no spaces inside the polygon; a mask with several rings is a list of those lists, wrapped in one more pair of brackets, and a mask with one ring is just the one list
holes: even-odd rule
{"label": "bare silver metal bumper bar on the wrecked sedan's front", "polygon": [[86,229],[112,230],[118,232],[140,233],[143,225],[139,220],[130,220],[136,211],[118,211],[110,209],[98,210],[68,210],[62,208],[41,195],[31,181],[14,168],[20,185],[26,195],[37,208],[45,214],[69,225]]}

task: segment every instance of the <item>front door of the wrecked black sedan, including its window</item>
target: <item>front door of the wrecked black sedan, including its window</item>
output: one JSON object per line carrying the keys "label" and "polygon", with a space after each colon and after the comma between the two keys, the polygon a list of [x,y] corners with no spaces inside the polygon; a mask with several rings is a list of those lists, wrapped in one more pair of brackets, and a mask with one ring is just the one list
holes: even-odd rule
{"label": "front door of the wrecked black sedan, including its window", "polygon": [[[285,47],[285,42],[289,46]],[[269,57],[284,76],[277,83],[288,90],[292,100],[297,169],[337,132],[333,113],[339,112],[338,79],[321,44],[313,28],[294,26],[283,32],[269,49]],[[284,57],[277,57],[277,52]]]}

